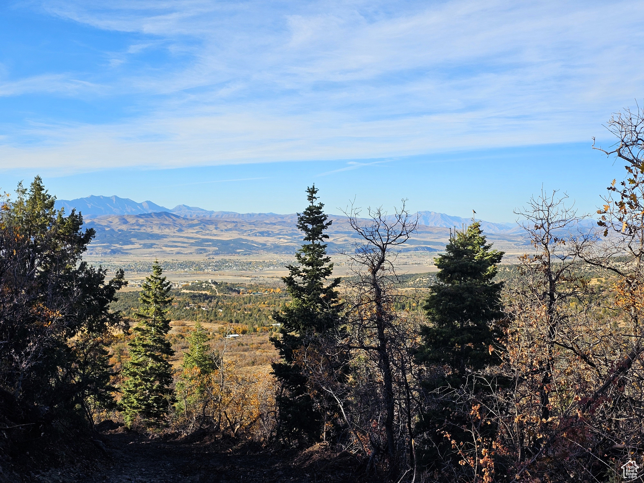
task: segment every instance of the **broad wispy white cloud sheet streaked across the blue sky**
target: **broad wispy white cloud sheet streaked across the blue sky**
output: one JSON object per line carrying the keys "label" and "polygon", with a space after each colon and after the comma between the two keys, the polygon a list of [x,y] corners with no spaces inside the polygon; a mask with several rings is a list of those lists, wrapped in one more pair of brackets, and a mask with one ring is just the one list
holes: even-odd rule
{"label": "broad wispy white cloud sheet streaked across the blue sky", "polygon": [[137,115],[46,127],[31,115],[3,129],[0,167],[368,159],[589,140],[641,94],[639,3],[390,6],[46,0],[45,12],[133,38],[104,52],[109,75],[45,72],[0,83],[0,95],[91,91],[136,99]]}

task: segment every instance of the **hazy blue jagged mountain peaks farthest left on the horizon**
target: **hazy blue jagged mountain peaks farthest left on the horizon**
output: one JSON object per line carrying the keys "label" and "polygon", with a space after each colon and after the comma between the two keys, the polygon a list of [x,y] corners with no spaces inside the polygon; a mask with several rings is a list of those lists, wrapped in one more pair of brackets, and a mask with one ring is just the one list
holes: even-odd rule
{"label": "hazy blue jagged mountain peaks farthest left on the horizon", "polygon": [[142,214],[169,211],[166,207],[159,206],[151,201],[137,203],[129,198],[118,196],[88,196],[76,200],[56,200],[56,208],[64,208],[70,213],[72,208],[80,211],[83,216],[109,216],[114,214]]}

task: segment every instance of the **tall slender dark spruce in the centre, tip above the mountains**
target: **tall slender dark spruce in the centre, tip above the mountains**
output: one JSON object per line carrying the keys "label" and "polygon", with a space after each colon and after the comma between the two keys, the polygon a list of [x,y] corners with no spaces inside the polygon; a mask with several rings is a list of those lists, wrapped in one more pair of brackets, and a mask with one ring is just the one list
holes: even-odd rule
{"label": "tall slender dark spruce in the centre, tip above the mountains", "polygon": [[324,231],[332,221],[323,212],[324,204],[316,203],[315,185],[307,189],[307,194],[309,205],[303,213],[298,213],[297,226],[304,232],[304,242],[308,243],[296,253],[299,265],[289,265],[289,275],[283,278],[290,303],[281,314],[273,314],[275,321],[281,324],[281,337],[271,339],[282,357],[282,361],[273,363],[272,367],[283,388],[278,396],[280,437],[288,440],[317,439],[322,431],[321,413],[314,410],[307,378],[295,363],[296,351],[303,346],[305,337],[324,335],[341,322],[336,291],[340,279],[327,284],[333,263],[327,256],[324,240],[328,235]]}

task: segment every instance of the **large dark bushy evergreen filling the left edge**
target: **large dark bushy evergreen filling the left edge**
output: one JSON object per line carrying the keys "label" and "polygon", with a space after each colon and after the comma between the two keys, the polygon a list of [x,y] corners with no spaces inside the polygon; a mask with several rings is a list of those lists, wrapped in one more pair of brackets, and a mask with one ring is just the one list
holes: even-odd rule
{"label": "large dark bushy evergreen filling the left edge", "polygon": [[[19,184],[16,194],[0,203],[0,393],[9,397],[3,404],[21,418],[49,408],[54,421],[77,421],[81,408],[91,423],[92,408],[113,405],[105,346],[120,314],[109,304],[127,282],[122,270],[106,281],[106,270],[82,260],[95,232],[82,230],[75,209],[68,215],[55,209],[40,176],[29,189]],[[26,421],[19,422],[33,424],[24,426],[34,431],[29,440],[48,431]]]}

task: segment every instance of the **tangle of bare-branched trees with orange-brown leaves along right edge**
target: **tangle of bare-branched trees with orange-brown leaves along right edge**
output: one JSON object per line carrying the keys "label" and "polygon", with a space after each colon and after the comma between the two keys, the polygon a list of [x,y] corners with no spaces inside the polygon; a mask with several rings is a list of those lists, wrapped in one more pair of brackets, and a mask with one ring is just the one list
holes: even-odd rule
{"label": "tangle of bare-branched trees with orange-brown leaves along right edge", "polygon": [[603,233],[581,232],[583,217],[556,192],[517,213],[535,252],[520,257],[506,283],[504,362],[491,377],[507,382],[481,400],[481,414],[498,427],[497,478],[608,480],[641,450],[642,114],[609,122],[620,142],[602,151],[629,163],[598,211]]}

